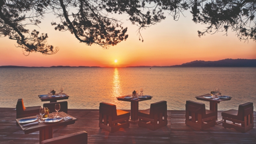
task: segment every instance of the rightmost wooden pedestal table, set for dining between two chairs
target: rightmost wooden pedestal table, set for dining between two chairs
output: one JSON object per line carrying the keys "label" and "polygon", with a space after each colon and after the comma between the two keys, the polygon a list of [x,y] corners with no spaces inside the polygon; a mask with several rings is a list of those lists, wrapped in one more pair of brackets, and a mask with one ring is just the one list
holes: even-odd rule
{"label": "rightmost wooden pedestal table, set for dining between two chairs", "polygon": [[222,123],[223,119],[218,119],[218,103],[220,103],[221,101],[229,101],[232,97],[227,98],[227,99],[218,99],[218,100],[213,100],[213,99],[206,99],[204,97],[210,97],[210,94],[205,94],[205,95],[200,95],[195,97],[197,100],[201,100],[201,101],[209,101],[210,102],[210,110],[216,112],[216,123]]}

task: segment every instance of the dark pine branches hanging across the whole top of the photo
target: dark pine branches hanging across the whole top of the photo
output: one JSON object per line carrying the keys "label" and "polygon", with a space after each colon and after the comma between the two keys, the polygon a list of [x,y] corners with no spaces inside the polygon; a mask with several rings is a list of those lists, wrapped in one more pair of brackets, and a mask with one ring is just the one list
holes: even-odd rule
{"label": "dark pine branches hanging across the whole top of the photo", "polygon": [[55,30],[68,30],[82,43],[108,48],[128,38],[127,28],[111,13],[128,15],[143,41],[141,30],[165,19],[164,11],[178,20],[188,9],[195,23],[208,24],[198,31],[199,37],[231,29],[240,40],[256,40],[256,0],[0,0],[0,37],[16,40],[28,54],[55,54],[59,48],[48,45],[48,34],[27,29],[52,12],[60,19],[52,22]]}

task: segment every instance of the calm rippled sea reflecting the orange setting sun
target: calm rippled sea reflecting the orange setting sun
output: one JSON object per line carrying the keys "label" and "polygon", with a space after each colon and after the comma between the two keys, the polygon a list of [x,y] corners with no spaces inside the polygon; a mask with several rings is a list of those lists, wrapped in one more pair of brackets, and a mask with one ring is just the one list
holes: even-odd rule
{"label": "calm rippled sea reflecting the orange setting sun", "polygon": [[[130,109],[130,102],[116,97],[144,89],[152,100],[139,102],[139,109],[165,100],[168,110],[185,110],[186,100],[219,88],[233,97],[218,105],[219,110],[256,105],[256,68],[2,68],[0,69],[0,107],[15,107],[22,98],[25,106],[43,105],[37,95],[60,88],[69,95],[68,107],[98,109],[100,102]],[[205,103],[207,101],[197,101]],[[254,110],[256,110],[254,108]]]}

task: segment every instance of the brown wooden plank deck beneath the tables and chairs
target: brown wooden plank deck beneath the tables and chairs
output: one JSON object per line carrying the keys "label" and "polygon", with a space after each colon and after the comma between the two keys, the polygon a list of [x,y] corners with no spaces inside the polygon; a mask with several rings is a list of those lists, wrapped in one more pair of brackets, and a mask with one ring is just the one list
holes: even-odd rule
{"label": "brown wooden plank deck beneath the tables and chairs", "polygon": [[[109,133],[98,127],[99,110],[69,109],[68,114],[76,117],[74,125],[55,127],[53,137],[78,131],[87,131],[89,144],[256,144],[255,127],[247,133],[224,129],[222,124],[206,130],[185,125],[185,111],[168,110],[168,125],[151,131],[130,124],[127,129]],[[0,142],[13,140],[15,144],[38,144],[39,131],[25,135],[15,123],[14,108],[0,108]],[[219,112],[219,118],[221,113]]]}

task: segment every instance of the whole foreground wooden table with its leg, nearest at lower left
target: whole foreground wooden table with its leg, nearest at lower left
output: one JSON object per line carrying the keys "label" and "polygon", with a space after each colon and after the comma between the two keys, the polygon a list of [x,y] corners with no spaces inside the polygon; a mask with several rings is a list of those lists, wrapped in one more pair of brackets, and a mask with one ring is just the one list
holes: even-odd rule
{"label": "whole foreground wooden table with its leg, nearest at lower left", "polygon": [[[25,134],[29,134],[29,133],[33,133],[35,131],[39,131],[39,144],[40,144],[43,140],[48,140],[48,139],[52,138],[52,127],[72,125],[77,120],[76,118],[66,114],[65,112],[59,112],[58,116],[60,116],[61,118],[65,117],[65,116],[69,116],[73,119],[72,120],[66,120],[66,121],[61,120],[60,122],[56,122],[56,123],[39,123],[38,125],[33,125],[31,127],[23,127],[22,126],[23,124],[20,124],[19,120],[26,119],[26,118],[35,118],[36,116],[30,116],[30,117],[26,117],[26,118],[17,118],[16,121],[19,124],[20,128],[22,128],[22,130],[24,131]],[[51,118],[52,114],[49,114],[49,117]]]}

